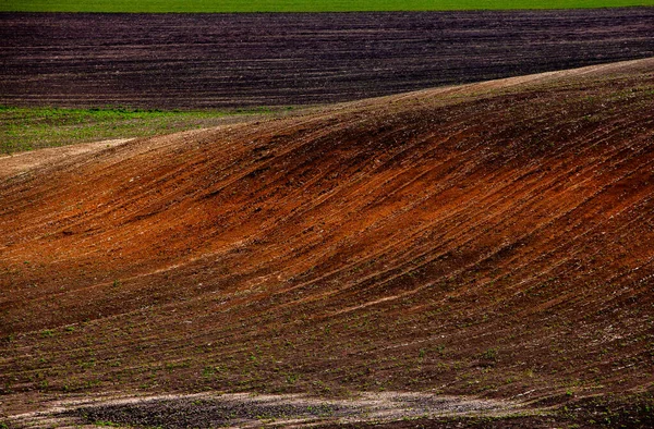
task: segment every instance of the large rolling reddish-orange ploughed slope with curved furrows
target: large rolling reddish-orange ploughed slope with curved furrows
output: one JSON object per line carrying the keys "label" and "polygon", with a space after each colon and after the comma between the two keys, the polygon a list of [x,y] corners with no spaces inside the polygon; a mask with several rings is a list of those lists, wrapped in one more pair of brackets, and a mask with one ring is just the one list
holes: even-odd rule
{"label": "large rolling reddish-orange ploughed slope with curved furrows", "polygon": [[647,59],[2,158],[4,410],[651,391],[653,111]]}

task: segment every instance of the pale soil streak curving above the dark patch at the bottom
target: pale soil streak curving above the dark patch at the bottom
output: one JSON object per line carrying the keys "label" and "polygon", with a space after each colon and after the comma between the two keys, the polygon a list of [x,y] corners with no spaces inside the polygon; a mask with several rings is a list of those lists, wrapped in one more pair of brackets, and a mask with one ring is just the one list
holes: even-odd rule
{"label": "pale soil streak curving above the dark patch at the bottom", "polygon": [[[166,404],[161,406],[161,404]],[[233,417],[226,421],[228,427],[262,427],[270,424],[272,426],[293,425],[311,426],[316,422],[356,422],[356,421],[392,421],[411,417],[451,417],[451,416],[506,416],[517,412],[529,412],[524,404],[512,401],[479,400],[464,396],[443,396],[429,393],[407,392],[361,392],[352,399],[320,400],[301,394],[286,395],[252,395],[249,393],[197,393],[185,395],[156,395],[156,396],[96,396],[81,400],[57,401],[49,404],[49,408],[40,412],[32,412],[9,416],[11,425],[24,428],[81,428],[88,422],[71,416],[71,410],[97,409],[98,407],[111,406],[125,409],[147,409],[154,415],[166,415],[170,409],[177,413],[193,405],[197,415],[210,416],[211,406],[233,407],[235,410],[249,409],[252,415],[270,413],[270,409],[284,409],[279,416],[267,420],[247,417],[234,413]],[[209,404],[209,405],[207,405]],[[130,407],[130,408],[126,408]],[[204,410],[202,408],[205,408]],[[288,407],[295,409],[305,408],[308,412],[288,413]],[[312,409],[322,409],[313,413]],[[327,413],[326,413],[327,410]],[[533,412],[533,410],[532,410]],[[62,415],[65,413],[65,415]],[[123,412],[124,413],[124,412]],[[195,413],[193,413],[195,414]],[[202,417],[198,417],[202,419]],[[110,421],[110,419],[107,419]],[[104,421],[107,421],[104,420]],[[197,421],[199,427],[207,421]]]}

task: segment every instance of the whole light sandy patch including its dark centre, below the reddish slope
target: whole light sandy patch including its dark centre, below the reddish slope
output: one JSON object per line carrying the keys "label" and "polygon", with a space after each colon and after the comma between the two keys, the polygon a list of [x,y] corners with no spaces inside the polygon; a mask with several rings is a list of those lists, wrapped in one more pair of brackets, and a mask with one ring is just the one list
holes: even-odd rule
{"label": "whole light sandy patch including its dark centre, below the reddish slope", "polygon": [[250,428],[419,417],[498,416],[518,409],[521,408],[514,402],[427,393],[363,392],[348,400],[320,400],[299,394],[202,393],[61,401],[50,409],[12,416],[9,421],[31,428],[80,427],[94,422],[162,428]]}

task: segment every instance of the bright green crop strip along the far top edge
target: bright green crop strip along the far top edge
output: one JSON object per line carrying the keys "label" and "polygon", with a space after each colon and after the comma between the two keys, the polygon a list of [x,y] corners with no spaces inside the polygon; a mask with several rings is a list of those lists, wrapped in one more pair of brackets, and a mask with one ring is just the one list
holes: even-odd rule
{"label": "bright green crop strip along the far top edge", "polygon": [[0,12],[352,12],[637,5],[654,5],[654,0],[0,0]]}

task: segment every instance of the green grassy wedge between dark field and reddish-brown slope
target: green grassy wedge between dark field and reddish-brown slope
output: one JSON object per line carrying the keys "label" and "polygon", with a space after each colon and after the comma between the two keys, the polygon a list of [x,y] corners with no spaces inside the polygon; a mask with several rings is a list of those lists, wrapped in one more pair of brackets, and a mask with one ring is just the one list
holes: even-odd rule
{"label": "green grassy wedge between dark field and reddish-brown slope", "polygon": [[12,154],[75,143],[174,133],[219,125],[228,120],[228,115],[269,112],[272,110],[264,108],[233,111],[162,111],[0,106],[0,152]]}

